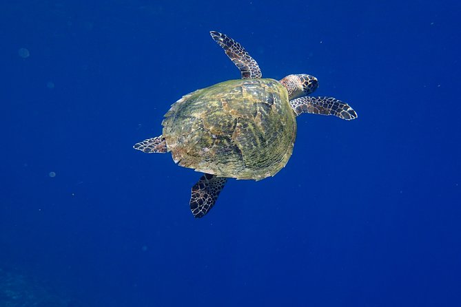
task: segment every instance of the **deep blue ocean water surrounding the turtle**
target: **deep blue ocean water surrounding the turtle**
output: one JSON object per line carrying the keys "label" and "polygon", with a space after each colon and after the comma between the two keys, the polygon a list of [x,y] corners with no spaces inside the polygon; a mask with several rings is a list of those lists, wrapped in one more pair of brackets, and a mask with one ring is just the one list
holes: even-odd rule
{"label": "deep blue ocean water surrounding the turtle", "polygon": [[[25,1],[0,10],[0,306],[461,306],[458,1]],[[240,74],[316,76],[287,167],[200,177],[135,142]],[[36,304],[36,305],[34,305]],[[39,305],[37,305],[39,304]],[[40,305],[41,304],[41,305]]]}

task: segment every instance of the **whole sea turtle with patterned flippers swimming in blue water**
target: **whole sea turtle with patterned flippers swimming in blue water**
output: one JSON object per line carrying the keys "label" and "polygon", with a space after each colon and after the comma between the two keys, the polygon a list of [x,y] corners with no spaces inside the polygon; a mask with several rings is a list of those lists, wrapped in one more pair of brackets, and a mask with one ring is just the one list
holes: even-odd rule
{"label": "whole sea turtle with patterned flippers swimming in blue water", "polygon": [[261,78],[258,63],[240,43],[219,32],[210,34],[242,78],[183,96],[165,114],[163,134],[134,145],[148,154],[171,151],[178,165],[204,173],[189,202],[196,218],[214,206],[227,178],[261,180],[285,167],[296,138],[296,116],[357,118],[354,109],[336,98],[306,96],[318,87],[314,76]]}

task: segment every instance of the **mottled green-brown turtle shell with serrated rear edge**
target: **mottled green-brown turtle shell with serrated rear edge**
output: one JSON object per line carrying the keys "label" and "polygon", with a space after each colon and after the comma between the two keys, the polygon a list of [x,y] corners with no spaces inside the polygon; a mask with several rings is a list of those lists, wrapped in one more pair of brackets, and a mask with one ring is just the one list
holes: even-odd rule
{"label": "mottled green-brown turtle shell with serrated rear edge", "polygon": [[163,120],[178,165],[220,177],[260,180],[285,167],[296,138],[287,89],[274,79],[240,79],[187,94]]}

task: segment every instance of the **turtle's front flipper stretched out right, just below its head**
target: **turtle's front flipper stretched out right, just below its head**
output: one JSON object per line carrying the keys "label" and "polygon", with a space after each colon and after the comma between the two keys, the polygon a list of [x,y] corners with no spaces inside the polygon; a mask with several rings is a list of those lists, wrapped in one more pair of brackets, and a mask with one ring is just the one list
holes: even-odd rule
{"label": "turtle's front flipper stretched out right, just below its head", "polygon": [[345,120],[357,118],[357,113],[347,103],[331,97],[301,97],[291,100],[291,108],[297,115],[302,113],[334,115]]}

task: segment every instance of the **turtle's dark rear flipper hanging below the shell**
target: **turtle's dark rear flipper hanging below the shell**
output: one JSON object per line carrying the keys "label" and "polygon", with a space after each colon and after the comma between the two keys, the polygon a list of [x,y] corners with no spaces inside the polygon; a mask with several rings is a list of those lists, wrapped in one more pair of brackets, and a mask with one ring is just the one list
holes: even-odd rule
{"label": "turtle's dark rear flipper hanging below the shell", "polygon": [[194,187],[190,198],[190,210],[195,218],[201,218],[212,209],[224,188],[227,178],[205,173]]}

